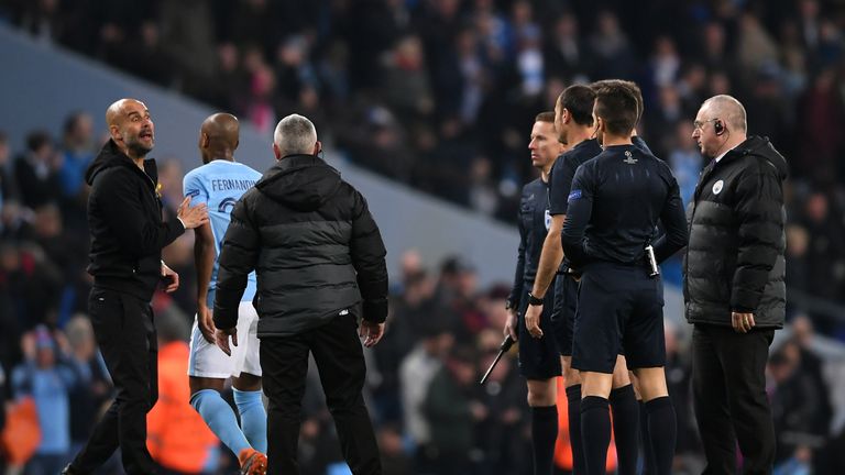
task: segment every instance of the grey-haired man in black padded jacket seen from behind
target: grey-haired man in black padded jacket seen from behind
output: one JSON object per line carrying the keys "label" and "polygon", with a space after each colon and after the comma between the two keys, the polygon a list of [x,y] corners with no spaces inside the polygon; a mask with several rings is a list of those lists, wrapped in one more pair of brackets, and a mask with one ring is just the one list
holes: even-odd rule
{"label": "grey-haired man in black padded jacket seen from behind", "polygon": [[[317,131],[292,114],[276,126],[278,161],[232,210],[220,253],[215,325],[229,353],[246,276],[257,274],[267,473],[297,474],[300,406],[314,354],[343,452],[355,475],[381,474],[361,390],[365,365],[355,332],[373,346],[387,317],[387,268],[363,196],[317,154]],[[232,338],[232,341],[237,341]]]}

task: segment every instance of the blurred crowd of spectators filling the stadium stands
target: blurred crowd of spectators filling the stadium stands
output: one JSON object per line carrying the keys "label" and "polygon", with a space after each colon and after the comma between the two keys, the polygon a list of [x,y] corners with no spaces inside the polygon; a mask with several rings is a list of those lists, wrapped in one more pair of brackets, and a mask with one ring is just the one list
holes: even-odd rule
{"label": "blurred crowd of spectators filling the stadium stands", "polygon": [[[749,132],[771,137],[792,173],[794,336],[769,365],[778,464],[783,473],[813,464],[815,473],[845,473],[845,421],[833,407],[841,389],[810,343],[813,328],[845,341],[843,2],[6,0],[0,18],[266,132],[303,113],[352,163],[506,222],[534,177],[526,148],[534,117],[566,85],[636,80],[646,101],[639,133],[670,163],[684,200],[704,166],[690,139],[695,111],[710,96],[736,96]],[[64,130],[33,131],[24,150],[10,150],[0,131],[0,383],[8,404],[30,395],[42,424],[54,424],[42,427],[51,437],[33,464],[76,451],[109,399],[85,317],[83,174],[100,143],[95,109],[69,115]],[[185,170],[177,162],[160,167],[174,212]],[[153,301],[156,313],[185,322],[195,312],[191,250],[190,233],[165,250],[183,285]],[[448,473],[456,457],[475,473],[530,473],[515,360],[485,387],[475,384],[501,341],[508,288],[479,289],[473,264],[460,257],[424,263],[413,252],[392,280],[388,334],[367,354],[385,473],[426,473],[420,464]],[[701,454],[688,342],[677,330],[667,331],[677,473],[693,473]],[[51,390],[35,391],[44,387],[36,380]],[[304,406],[308,474],[341,460],[318,393]],[[566,466],[564,449],[557,460]]]}

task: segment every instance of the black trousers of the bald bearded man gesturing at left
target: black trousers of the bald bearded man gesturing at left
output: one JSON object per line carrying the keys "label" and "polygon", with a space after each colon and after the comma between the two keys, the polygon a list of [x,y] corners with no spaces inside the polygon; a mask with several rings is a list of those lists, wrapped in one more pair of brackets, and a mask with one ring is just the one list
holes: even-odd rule
{"label": "black trousers of the bald bearded man gesturing at left", "polygon": [[88,309],[117,397],[72,468],[92,473],[120,446],[128,474],[154,474],[156,465],[146,450],[146,413],[158,399],[153,310],[147,301],[98,287],[91,289]]}

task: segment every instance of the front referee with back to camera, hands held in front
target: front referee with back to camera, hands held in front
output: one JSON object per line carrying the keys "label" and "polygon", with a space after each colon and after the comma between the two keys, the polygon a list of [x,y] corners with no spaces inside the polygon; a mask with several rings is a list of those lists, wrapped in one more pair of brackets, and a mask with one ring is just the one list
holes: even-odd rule
{"label": "front referee with back to camera, hands held in front", "polygon": [[[581,372],[581,434],[588,474],[604,474],[611,420],[607,397],[624,347],[639,379],[658,473],[671,473],[674,408],[663,364],[662,285],[650,269],[687,244],[678,184],[666,163],[634,146],[637,100],[611,85],[596,93],[593,115],[604,152],[575,172],[563,225],[563,250],[582,274],[572,366]],[[667,234],[656,240],[658,221]],[[654,242],[654,244],[651,244]],[[659,433],[660,437],[655,437]]]}

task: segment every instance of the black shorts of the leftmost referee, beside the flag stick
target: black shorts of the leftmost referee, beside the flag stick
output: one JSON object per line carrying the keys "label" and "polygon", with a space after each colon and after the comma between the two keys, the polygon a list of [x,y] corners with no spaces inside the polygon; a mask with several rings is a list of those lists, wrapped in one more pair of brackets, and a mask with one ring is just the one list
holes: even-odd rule
{"label": "black shorts of the leftmost referee, beside the flag stick", "polygon": [[550,379],[561,375],[560,354],[555,342],[551,325],[551,312],[555,308],[555,292],[547,291],[540,313],[542,338],[536,339],[525,327],[525,311],[528,308],[528,291],[531,286],[526,283],[519,299],[517,335],[519,336],[519,374],[526,379]]}

